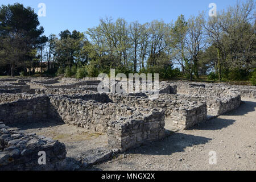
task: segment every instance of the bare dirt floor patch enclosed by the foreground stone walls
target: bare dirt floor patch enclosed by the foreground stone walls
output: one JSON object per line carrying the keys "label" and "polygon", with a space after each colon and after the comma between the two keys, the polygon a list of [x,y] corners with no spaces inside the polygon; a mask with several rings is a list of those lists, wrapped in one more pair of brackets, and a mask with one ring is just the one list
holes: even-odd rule
{"label": "bare dirt floor patch enclosed by the foreground stone walls", "polygon": [[26,123],[26,125],[15,125],[15,127],[19,127],[26,133],[36,133],[36,135],[63,142],[66,146],[67,157],[71,158],[79,158],[80,154],[85,151],[105,147],[108,144],[106,134],[92,133],[80,127],[54,121]]}

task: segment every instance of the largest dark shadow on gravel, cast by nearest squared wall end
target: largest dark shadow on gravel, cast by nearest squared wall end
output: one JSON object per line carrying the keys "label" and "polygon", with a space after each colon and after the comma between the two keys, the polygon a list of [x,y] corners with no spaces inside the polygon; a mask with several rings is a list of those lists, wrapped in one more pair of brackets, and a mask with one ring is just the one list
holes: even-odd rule
{"label": "largest dark shadow on gravel, cast by nearest squared wall end", "polygon": [[212,139],[183,133],[172,133],[170,137],[128,150],[126,154],[171,155],[175,152],[183,152],[186,147],[205,144],[209,140]]}

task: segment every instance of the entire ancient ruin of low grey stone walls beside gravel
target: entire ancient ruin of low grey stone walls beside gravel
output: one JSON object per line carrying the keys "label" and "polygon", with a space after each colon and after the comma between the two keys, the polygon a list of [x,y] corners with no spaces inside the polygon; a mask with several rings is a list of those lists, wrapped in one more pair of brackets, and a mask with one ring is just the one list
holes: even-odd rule
{"label": "entire ancient ruin of low grey stone walls beside gravel", "polygon": [[[0,170],[85,168],[163,139],[170,130],[189,129],[236,109],[241,97],[256,98],[256,86],[179,81],[160,82],[159,97],[151,100],[148,93],[98,93],[100,82],[97,78],[1,79]],[[35,129],[26,128],[28,123],[42,122],[100,133],[105,144],[96,148],[79,144],[80,151],[73,155],[65,146],[68,143],[28,132]],[[46,164],[38,163],[40,151],[46,152]]]}

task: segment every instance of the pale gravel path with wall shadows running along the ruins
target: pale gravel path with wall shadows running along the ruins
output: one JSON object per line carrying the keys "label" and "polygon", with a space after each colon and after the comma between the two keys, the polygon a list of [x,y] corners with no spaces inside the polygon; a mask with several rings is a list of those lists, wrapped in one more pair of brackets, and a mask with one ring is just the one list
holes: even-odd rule
{"label": "pale gravel path with wall shadows running along the ruins", "polygon": [[[93,166],[101,170],[256,170],[256,100]],[[217,164],[209,164],[215,151]]]}

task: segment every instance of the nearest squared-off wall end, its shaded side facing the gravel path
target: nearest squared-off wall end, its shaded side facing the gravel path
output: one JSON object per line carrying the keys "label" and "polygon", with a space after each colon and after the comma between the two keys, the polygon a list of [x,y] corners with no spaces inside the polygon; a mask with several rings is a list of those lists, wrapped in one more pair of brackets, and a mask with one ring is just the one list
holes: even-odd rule
{"label": "nearest squared-off wall end, its shaded side facing the gravel path", "polygon": [[121,151],[163,137],[163,110],[151,110],[147,114],[134,113],[132,117],[121,118],[112,122],[108,128],[109,146]]}

